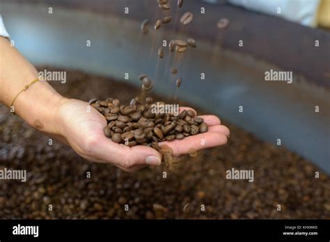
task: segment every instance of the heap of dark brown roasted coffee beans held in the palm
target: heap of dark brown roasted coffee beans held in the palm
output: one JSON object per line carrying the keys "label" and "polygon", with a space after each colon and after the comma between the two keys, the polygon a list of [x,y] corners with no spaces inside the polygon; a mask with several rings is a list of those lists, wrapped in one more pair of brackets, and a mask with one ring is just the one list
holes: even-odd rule
{"label": "heap of dark brown roasted coffee beans held in the palm", "polygon": [[[141,75],[141,79],[143,85],[151,85],[148,76]],[[108,122],[103,130],[104,135],[115,143],[128,146],[148,145],[159,150],[158,142],[182,140],[208,130],[203,118],[196,117],[191,110],[184,110],[178,116],[173,113],[153,113],[151,97],[146,98],[146,104],[141,104],[139,97],[132,99],[129,105],[120,104],[118,99],[113,98],[105,101],[91,99],[90,104]]]}

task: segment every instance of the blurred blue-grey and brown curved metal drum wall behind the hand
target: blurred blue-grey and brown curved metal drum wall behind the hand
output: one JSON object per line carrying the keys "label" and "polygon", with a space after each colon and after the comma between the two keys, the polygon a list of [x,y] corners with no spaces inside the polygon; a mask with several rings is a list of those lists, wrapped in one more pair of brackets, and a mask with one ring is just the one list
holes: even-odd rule
{"label": "blurred blue-grey and brown curved metal drum wall behind the hand", "polygon": [[[189,1],[184,11],[168,10],[171,24],[154,35],[153,24],[162,16],[161,10],[152,0],[136,2],[2,0],[0,10],[15,46],[33,64],[119,80],[128,73],[125,81],[136,86],[139,74],[147,73],[153,77],[155,92],[170,97],[175,95],[176,78],[166,64],[167,52],[159,60],[157,49],[162,40],[194,38],[197,48],[186,51],[175,66],[184,80],[180,99],[269,143],[276,144],[280,138],[281,145],[330,173],[329,32],[227,4]],[[207,17],[199,14],[202,5]],[[174,25],[186,11],[194,13],[194,21],[189,26]],[[230,20],[225,30],[217,29],[222,17]],[[152,25],[148,35],[140,31],[143,19]],[[317,48],[316,38],[321,43]],[[164,63],[157,65],[160,61]],[[269,70],[292,71],[293,83],[265,81]],[[319,113],[315,106],[320,107]]]}

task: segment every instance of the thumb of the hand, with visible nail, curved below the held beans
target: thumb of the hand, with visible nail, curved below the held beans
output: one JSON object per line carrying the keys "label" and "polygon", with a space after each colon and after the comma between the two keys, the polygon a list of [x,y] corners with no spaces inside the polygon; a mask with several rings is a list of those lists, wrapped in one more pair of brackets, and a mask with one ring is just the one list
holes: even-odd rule
{"label": "thumb of the hand, with visible nail, curved below the held beans", "polygon": [[156,150],[144,146],[137,145],[128,147],[127,145],[114,143],[105,136],[99,137],[95,141],[95,145],[90,150],[88,156],[95,159],[113,163],[125,169],[131,169],[136,166],[159,166],[162,159]]}

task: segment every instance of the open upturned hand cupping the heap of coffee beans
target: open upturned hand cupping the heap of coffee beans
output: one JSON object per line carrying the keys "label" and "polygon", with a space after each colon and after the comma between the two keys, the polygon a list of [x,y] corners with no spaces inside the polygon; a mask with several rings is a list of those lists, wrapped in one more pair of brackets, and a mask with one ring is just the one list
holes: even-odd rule
{"label": "open upturned hand cupping the heap of coffee beans", "polygon": [[[180,108],[180,111],[188,108]],[[191,108],[189,108],[191,109]],[[90,161],[111,163],[127,172],[139,170],[144,166],[159,166],[161,154],[151,147],[114,143],[104,136],[103,129],[107,126],[104,116],[89,106],[87,102],[68,99],[58,109],[60,134],[72,149]],[[229,136],[229,129],[214,115],[201,116],[209,126],[209,131],[184,140],[162,142],[173,149],[173,154],[187,154],[189,148],[201,150],[207,147],[224,145]]]}

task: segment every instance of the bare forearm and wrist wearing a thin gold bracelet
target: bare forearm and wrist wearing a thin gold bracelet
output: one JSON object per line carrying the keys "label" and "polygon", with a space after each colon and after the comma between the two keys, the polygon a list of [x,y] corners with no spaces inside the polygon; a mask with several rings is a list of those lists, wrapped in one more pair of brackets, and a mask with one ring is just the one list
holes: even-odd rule
{"label": "bare forearm and wrist wearing a thin gold bracelet", "polygon": [[[0,70],[0,102],[10,108],[24,86],[38,78],[38,72],[15,47],[10,47],[8,40],[1,37]],[[65,101],[47,81],[38,81],[15,99],[13,107],[15,114],[33,128],[56,135],[56,111]]]}

